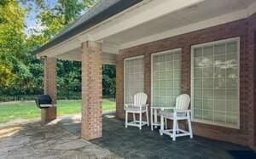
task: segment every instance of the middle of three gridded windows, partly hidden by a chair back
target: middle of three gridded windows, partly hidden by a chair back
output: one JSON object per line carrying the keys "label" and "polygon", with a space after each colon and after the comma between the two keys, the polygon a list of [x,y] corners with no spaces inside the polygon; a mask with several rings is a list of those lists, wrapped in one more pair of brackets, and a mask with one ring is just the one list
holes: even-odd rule
{"label": "middle of three gridded windows, partly hidden by a chair back", "polygon": [[175,106],[181,94],[181,49],[152,54],[152,104]]}

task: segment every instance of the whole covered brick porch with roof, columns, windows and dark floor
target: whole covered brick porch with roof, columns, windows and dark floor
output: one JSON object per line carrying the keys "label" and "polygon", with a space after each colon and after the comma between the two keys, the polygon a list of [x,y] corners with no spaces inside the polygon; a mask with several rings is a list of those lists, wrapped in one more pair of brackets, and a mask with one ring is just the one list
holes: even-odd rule
{"label": "whole covered brick porch with roof, columns, windows and dark floor", "polygon": [[[211,139],[255,148],[253,0],[106,2],[35,51],[44,57],[44,94],[56,105],[42,110],[44,123],[56,118],[56,60],[76,60],[82,63],[81,123],[65,127],[71,124],[69,131],[82,139],[131,158],[231,158],[247,150]],[[118,119],[102,120],[103,64],[117,65]],[[193,132],[210,139],[172,142],[146,127],[125,129],[124,104],[137,92],[148,95],[149,107],[173,106],[177,95],[189,94]]]}

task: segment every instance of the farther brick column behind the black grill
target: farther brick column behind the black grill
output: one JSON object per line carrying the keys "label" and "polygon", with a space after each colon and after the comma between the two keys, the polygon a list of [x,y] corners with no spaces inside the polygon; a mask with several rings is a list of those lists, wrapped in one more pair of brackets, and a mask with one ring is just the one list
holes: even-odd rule
{"label": "farther brick column behind the black grill", "polygon": [[[44,94],[48,94],[53,100],[53,104],[56,104],[57,99],[57,85],[56,85],[56,59],[45,57],[44,59]],[[42,109],[41,120],[42,123],[51,122],[56,118],[56,106]]]}

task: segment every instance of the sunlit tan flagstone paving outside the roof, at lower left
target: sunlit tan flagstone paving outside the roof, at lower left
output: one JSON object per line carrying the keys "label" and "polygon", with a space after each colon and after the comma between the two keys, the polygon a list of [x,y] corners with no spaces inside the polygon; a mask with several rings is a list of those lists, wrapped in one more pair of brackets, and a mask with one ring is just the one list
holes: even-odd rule
{"label": "sunlit tan flagstone paving outside the roof, at lower left", "polygon": [[80,139],[58,124],[41,126],[39,122],[32,122],[0,128],[0,158],[94,159],[119,156]]}

